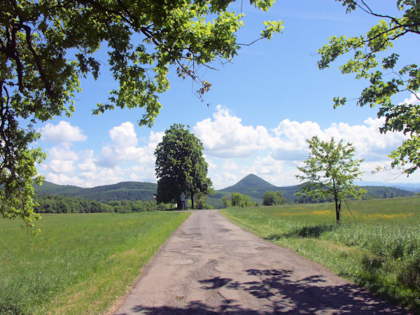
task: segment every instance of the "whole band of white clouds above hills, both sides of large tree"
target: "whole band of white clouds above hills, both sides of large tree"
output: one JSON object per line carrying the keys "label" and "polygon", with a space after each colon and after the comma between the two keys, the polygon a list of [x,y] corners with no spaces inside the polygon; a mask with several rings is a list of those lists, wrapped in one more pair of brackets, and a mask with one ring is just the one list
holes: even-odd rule
{"label": "whole band of white clouds above hills, both sides of large tree", "polygon": [[[241,118],[217,106],[213,118],[197,122],[193,132],[204,144],[209,177],[215,188],[231,186],[250,173],[276,186],[290,186],[298,183],[296,167],[307,158],[306,139],[314,135],[326,141],[335,137],[337,141],[352,142],[358,158],[365,158],[363,179],[382,179],[380,174],[372,175],[370,171],[389,163],[386,156],[405,139],[398,132],[380,134],[378,128],[383,123],[382,119],[368,118],[360,125],[331,123],[321,127],[312,121],[285,119],[267,130],[263,126],[243,125]],[[48,173],[48,181],[83,187],[119,181],[156,181],[153,153],[164,132],[151,131],[148,137],[139,139],[132,123],[122,123],[109,130],[108,143],[100,152],[94,152],[73,150],[69,138],[62,137],[62,130],[68,130],[75,135],[73,141],[85,139],[78,127],[60,122],[44,128],[45,139],[62,141],[60,146],[48,149],[50,157],[40,169],[41,173]]]}

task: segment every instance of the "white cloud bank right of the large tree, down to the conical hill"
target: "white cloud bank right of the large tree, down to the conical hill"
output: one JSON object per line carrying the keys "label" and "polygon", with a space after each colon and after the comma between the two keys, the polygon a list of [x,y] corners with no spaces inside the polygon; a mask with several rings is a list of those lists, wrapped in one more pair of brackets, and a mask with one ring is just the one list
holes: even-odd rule
{"label": "white cloud bank right of the large tree, down to the conical hill", "polygon": [[321,127],[312,121],[285,119],[267,131],[262,126],[243,125],[241,118],[217,106],[213,118],[198,122],[193,132],[204,144],[216,188],[230,186],[249,173],[277,186],[290,186],[298,183],[296,167],[308,157],[306,140],[315,135],[323,141],[334,137],[351,142],[358,158],[365,158],[363,170],[370,174],[405,139],[400,132],[381,134],[383,124],[382,118],[368,118],[360,125],[331,123]]}

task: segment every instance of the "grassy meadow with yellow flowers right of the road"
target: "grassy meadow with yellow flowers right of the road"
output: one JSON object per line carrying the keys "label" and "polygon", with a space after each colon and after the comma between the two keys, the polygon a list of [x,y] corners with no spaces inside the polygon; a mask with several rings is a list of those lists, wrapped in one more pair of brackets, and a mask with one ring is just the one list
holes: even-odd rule
{"label": "grassy meadow with yellow flowers right of the road", "polygon": [[420,197],[334,204],[228,208],[221,213],[260,237],[320,262],[403,307],[420,312]]}

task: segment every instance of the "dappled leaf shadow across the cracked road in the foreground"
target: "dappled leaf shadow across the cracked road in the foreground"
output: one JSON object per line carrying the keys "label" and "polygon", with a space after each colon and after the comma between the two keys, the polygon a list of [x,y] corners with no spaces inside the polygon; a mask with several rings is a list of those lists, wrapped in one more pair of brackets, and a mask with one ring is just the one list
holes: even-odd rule
{"label": "dappled leaf shadow across the cracked road in the foreground", "polygon": [[200,283],[204,290],[244,290],[257,299],[264,299],[266,307],[260,311],[245,309],[241,301],[228,299],[223,300],[217,308],[193,301],[183,307],[137,306],[132,311],[144,314],[409,314],[388,302],[377,300],[358,286],[325,285],[327,279],[321,275],[296,281],[292,279],[293,270],[248,269],[244,272],[259,280],[241,282],[215,276]]}

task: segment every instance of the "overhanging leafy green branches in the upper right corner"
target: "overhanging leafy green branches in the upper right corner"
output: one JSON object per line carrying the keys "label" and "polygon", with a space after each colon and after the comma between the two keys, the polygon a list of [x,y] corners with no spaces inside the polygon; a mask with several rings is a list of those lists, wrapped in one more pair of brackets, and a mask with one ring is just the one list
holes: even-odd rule
{"label": "overhanging leafy green branches in the upper right corner", "polygon": [[[342,2],[347,13],[363,10],[383,20],[365,36],[332,36],[330,42],[318,50],[321,55],[318,67],[328,68],[337,57],[353,54],[339,69],[343,74],[354,73],[357,79],[369,80],[369,85],[357,98],[357,104],[379,105],[377,116],[385,118],[384,125],[379,128],[381,133],[402,131],[408,136],[389,157],[393,159],[391,167],[401,169],[409,176],[420,167],[420,69],[414,63],[398,66],[400,55],[386,51],[393,48],[393,43],[402,36],[420,35],[420,2],[396,0],[395,6],[402,13],[396,17],[375,11],[364,0],[335,1]],[[412,97],[407,99],[412,101],[395,102],[394,95],[400,92],[409,92]],[[335,97],[334,107],[346,102],[346,97]]]}

